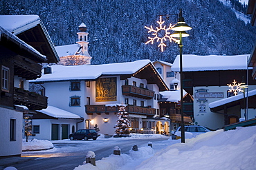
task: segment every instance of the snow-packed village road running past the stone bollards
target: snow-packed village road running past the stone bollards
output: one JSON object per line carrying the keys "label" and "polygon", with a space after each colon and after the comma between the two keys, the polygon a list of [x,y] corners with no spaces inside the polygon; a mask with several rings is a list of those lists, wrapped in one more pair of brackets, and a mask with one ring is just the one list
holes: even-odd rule
{"label": "snow-packed village road running past the stone bollards", "polygon": [[[52,141],[55,148],[47,151],[23,152],[23,157],[35,159],[19,162],[13,166],[23,169],[74,169],[85,160],[88,151],[95,152],[96,160],[108,157],[113,153],[113,148],[118,146],[121,153],[128,153],[134,145],[147,146],[147,143],[163,141],[168,138],[149,139],[97,139],[97,140],[59,140]],[[153,146],[154,147],[154,146]]]}

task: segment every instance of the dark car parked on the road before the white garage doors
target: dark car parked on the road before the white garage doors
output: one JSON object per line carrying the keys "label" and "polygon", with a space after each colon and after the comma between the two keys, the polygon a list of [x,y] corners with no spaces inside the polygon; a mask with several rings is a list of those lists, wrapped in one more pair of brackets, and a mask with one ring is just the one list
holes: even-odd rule
{"label": "dark car parked on the road before the white garage doors", "polygon": [[70,140],[89,140],[89,139],[93,139],[96,140],[98,138],[99,134],[97,133],[97,131],[95,131],[95,129],[80,129],[78,131],[76,131],[73,134],[70,134],[68,136],[68,138]]}

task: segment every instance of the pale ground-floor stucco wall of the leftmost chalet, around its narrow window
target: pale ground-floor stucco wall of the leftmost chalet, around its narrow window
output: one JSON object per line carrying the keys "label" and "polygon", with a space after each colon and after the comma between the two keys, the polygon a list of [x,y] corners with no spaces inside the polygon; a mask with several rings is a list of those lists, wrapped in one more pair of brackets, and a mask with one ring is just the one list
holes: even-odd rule
{"label": "pale ground-floor stucco wall of the leftmost chalet, around its narrow window", "polygon": [[[6,109],[0,107],[0,156],[15,156],[21,155],[22,151],[22,125],[23,125],[23,113],[15,111],[13,109]],[[10,119],[16,120],[15,128],[15,141],[10,141]],[[3,138],[6,136],[6,138]]]}

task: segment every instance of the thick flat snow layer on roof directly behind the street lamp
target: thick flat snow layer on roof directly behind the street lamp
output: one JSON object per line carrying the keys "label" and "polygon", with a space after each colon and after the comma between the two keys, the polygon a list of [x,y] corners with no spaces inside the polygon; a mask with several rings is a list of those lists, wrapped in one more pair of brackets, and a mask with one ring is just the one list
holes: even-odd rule
{"label": "thick flat snow layer on roof directly behind the street lamp", "polygon": [[[250,56],[250,54],[237,56],[196,56],[185,54],[183,55],[183,72],[246,70],[248,56]],[[179,65],[180,56],[178,55],[172,65],[172,71],[179,72]]]}

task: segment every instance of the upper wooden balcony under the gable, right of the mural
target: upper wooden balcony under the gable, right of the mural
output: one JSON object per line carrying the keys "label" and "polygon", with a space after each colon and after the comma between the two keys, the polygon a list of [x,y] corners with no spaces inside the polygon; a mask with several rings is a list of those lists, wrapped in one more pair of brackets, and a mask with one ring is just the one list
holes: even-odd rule
{"label": "upper wooden balcony under the gable, right of the mural", "polygon": [[133,96],[144,99],[154,98],[154,91],[149,89],[143,89],[133,85],[122,85],[122,95]]}

